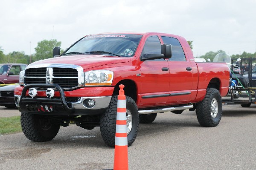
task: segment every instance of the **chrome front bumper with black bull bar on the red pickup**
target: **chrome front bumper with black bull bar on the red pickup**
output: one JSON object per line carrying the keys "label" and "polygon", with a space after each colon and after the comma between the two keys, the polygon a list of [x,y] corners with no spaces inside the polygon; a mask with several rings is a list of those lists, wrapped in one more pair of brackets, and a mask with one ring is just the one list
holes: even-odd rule
{"label": "chrome front bumper with black bull bar on the red pickup", "polygon": [[[26,96],[30,88],[55,88],[60,96],[36,98]],[[64,91],[58,84],[28,84],[24,86],[21,95],[15,95],[15,104],[20,112],[49,115],[91,115],[100,114],[108,107],[111,96],[79,97],[77,101],[67,101]],[[89,102],[88,102],[89,101]]]}

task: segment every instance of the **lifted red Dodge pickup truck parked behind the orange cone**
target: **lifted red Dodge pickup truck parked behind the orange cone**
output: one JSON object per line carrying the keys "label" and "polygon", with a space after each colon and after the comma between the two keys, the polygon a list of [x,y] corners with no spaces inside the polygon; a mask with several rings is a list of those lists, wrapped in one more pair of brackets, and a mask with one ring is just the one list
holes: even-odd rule
{"label": "lifted red Dodge pickup truck parked behind the orange cone", "polygon": [[[23,133],[49,141],[60,126],[100,127],[113,147],[119,85],[125,85],[130,146],[139,123],[161,112],[196,110],[199,124],[221,120],[221,96],[229,88],[226,63],[196,63],[187,41],[163,33],[105,33],[82,37],[60,55],[37,61],[20,72],[15,103]],[[60,56],[59,56],[60,55]]]}

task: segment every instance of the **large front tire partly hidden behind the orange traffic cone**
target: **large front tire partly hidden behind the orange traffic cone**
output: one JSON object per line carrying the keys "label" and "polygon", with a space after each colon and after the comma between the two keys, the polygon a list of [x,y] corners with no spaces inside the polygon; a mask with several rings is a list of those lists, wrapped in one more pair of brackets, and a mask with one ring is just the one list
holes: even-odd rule
{"label": "large front tire partly hidden behind the orange traffic cone", "polygon": [[[110,147],[115,147],[117,96],[112,96],[108,108],[100,117],[102,139]],[[135,141],[139,128],[139,112],[135,101],[126,96],[126,123],[128,147]]]}

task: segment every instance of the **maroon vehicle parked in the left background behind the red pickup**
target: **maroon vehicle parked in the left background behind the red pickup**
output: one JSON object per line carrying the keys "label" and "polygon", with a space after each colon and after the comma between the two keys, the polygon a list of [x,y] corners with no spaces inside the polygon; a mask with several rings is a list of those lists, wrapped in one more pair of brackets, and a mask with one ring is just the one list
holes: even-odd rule
{"label": "maroon vehicle parked in the left background behind the red pickup", "polygon": [[0,84],[13,84],[19,82],[20,71],[26,68],[26,64],[0,64]]}

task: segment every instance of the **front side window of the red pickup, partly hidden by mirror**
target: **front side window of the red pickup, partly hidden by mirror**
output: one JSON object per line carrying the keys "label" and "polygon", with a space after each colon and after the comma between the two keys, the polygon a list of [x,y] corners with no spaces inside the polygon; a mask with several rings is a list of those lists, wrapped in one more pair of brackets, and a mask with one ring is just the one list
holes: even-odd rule
{"label": "front side window of the red pickup, partly hidden by mirror", "polygon": [[[157,36],[148,37],[142,50],[142,54],[161,54],[161,43]],[[165,61],[163,58],[148,61]]]}

